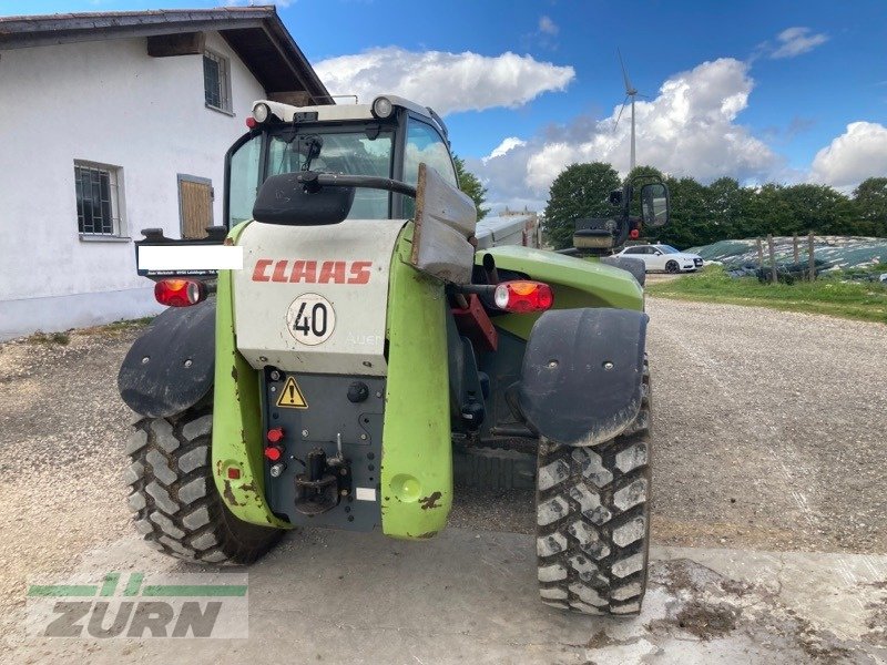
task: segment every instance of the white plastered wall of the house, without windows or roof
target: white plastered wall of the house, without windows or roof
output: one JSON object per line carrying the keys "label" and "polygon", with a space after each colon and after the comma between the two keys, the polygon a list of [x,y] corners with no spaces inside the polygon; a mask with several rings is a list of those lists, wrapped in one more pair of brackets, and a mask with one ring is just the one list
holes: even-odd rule
{"label": "white plastered wall of the house, without windows or roof", "polygon": [[122,168],[123,235],[181,237],[177,174],[211,178],[222,223],[224,154],[258,82],[231,63],[235,116],[204,103],[201,55],[150,58],[144,39],[0,52],[0,339],[155,314],[132,239],[80,238],[74,161]]}

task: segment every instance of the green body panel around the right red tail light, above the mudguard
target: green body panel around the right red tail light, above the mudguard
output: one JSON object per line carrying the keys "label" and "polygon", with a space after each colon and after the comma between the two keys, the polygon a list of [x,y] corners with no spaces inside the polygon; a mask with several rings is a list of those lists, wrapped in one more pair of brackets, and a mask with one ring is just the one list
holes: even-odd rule
{"label": "green body panel around the right red tail light, above the mudguard", "polygon": [[[485,254],[492,255],[498,268],[523,273],[550,285],[554,291],[554,309],[615,307],[643,311],[643,288],[630,273],[620,268],[520,245],[482,249],[475,257],[478,265],[483,263]],[[539,316],[510,314],[497,316],[493,323],[522,339],[529,339]]]}

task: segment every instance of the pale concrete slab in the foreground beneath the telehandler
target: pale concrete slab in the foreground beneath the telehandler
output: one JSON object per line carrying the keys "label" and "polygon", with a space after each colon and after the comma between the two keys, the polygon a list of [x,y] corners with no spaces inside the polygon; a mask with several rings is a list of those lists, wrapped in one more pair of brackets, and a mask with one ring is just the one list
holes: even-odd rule
{"label": "pale concrete slab in the foreground beneath the telehandler", "polygon": [[[655,548],[640,617],[570,615],[536,594],[533,539],[427,543],[290,534],[248,571],[247,640],[19,642],[18,663],[883,663],[887,556]],[[193,571],[134,538],[78,566]],[[149,573],[150,576],[150,573]],[[874,627],[873,627],[874,626]]]}

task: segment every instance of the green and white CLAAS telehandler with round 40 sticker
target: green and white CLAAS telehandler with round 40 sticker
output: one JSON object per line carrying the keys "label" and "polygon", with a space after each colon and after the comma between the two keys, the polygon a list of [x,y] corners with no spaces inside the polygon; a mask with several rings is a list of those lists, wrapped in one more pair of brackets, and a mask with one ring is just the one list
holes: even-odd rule
{"label": "green and white CLAAS telehandler with round 40 sticker", "polygon": [[[455,442],[532,450],[542,602],[638,613],[651,410],[638,279],[477,250],[430,109],[262,101],[247,124],[226,155],[225,226],[136,244],[171,305],[119,375],[139,415],[126,481],[145,542],[248,564],[298,526],[430,539]],[[614,198],[610,245],[638,226],[632,194]],[[664,186],[639,194],[644,222],[664,223]]]}

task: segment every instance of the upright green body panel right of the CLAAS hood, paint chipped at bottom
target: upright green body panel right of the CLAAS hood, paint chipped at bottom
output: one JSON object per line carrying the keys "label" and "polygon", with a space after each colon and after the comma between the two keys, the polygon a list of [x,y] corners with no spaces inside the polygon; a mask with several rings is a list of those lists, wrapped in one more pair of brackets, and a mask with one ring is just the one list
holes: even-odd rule
{"label": "upright green body panel right of the CLAAS hood, paint chipped at bottom", "polygon": [[398,239],[388,286],[381,522],[386,535],[426,539],[452,504],[452,444],[443,284],[409,265],[412,228]]}

